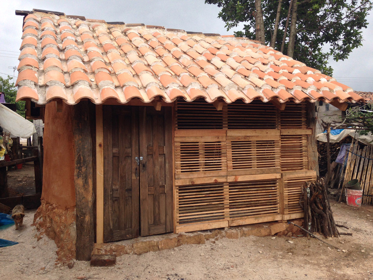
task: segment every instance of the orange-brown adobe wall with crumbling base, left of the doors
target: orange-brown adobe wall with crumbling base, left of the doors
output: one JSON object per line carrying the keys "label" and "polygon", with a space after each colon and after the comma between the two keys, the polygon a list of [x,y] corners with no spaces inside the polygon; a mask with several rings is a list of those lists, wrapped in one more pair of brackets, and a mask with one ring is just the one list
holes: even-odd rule
{"label": "orange-brown adobe wall with crumbling base, left of the doors", "polygon": [[44,168],[41,206],[34,216],[40,236],[46,234],[56,242],[62,261],[75,258],[75,155],[73,149],[73,106],[63,103],[46,105],[44,129]]}

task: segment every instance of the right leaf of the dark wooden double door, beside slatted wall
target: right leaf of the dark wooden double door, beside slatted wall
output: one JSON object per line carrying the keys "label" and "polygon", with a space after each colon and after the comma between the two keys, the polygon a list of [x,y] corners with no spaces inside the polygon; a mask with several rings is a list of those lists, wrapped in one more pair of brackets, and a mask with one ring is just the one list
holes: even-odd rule
{"label": "right leaf of the dark wooden double door, beside slatted wall", "polygon": [[[173,230],[171,110],[140,108],[141,236]],[[168,120],[168,121],[167,121]]]}

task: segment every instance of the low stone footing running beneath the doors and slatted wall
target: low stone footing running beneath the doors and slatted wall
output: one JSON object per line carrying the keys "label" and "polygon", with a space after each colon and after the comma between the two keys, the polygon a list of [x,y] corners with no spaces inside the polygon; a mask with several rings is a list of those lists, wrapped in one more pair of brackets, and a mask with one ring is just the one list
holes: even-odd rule
{"label": "low stone footing running beneath the doors and slatted wall", "polygon": [[[303,224],[303,219],[292,220],[292,222],[301,226]],[[181,245],[204,244],[207,240],[218,240],[224,237],[238,239],[247,236],[290,236],[293,234],[303,234],[303,232],[301,232],[300,228],[292,224],[278,222],[260,223],[227,229],[194,231],[191,233],[167,233],[118,242],[95,244],[92,255],[115,254],[116,256],[120,256],[132,253],[140,255],[147,252],[172,249]]]}

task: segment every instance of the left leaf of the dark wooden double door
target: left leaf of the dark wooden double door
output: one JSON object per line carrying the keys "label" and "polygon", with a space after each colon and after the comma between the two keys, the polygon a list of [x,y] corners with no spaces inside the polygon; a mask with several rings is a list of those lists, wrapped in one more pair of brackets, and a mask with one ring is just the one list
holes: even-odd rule
{"label": "left leaf of the dark wooden double door", "polygon": [[137,108],[104,106],[104,135],[104,241],[134,238],[139,235]]}

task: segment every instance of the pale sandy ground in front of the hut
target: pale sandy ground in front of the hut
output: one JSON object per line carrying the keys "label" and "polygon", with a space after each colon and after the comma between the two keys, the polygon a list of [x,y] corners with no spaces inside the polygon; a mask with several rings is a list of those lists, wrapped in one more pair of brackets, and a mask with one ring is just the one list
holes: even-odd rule
{"label": "pale sandy ground in front of the hut", "polygon": [[[21,230],[9,227],[0,238],[19,242],[0,248],[0,278],[7,279],[373,279],[373,206],[352,208],[332,203],[336,223],[352,236],[314,238],[242,237],[204,245],[183,245],[143,255],[117,257],[115,267],[90,267],[75,261],[72,268],[55,262],[56,245],[44,236],[37,241],[32,226],[35,210],[26,211]],[[215,242],[215,243],[213,243]]]}

